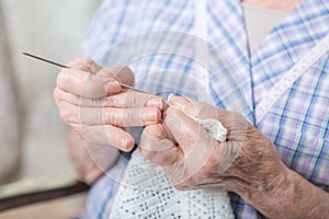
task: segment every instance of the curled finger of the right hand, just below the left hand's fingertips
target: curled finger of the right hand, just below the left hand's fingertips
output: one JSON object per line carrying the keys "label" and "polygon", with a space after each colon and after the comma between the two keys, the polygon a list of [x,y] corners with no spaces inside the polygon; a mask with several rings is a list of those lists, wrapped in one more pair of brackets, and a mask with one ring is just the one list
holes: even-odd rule
{"label": "curled finger of the right hand, just below the left hand's fingertips", "polygon": [[166,138],[162,125],[146,126],[139,143],[140,153],[160,166],[169,166],[183,157],[183,152]]}

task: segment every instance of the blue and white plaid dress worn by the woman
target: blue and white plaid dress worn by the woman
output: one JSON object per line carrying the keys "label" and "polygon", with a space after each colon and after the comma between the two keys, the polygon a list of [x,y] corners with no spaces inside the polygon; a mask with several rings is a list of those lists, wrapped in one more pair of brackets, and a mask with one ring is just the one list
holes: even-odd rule
{"label": "blue and white plaid dress worn by the woman", "polygon": [[[105,0],[83,44],[83,55],[103,66],[128,65],[139,89],[206,101],[238,111],[253,123],[253,108],[263,94],[329,33],[329,1],[305,0],[250,57],[240,1],[208,0],[208,59],[197,60],[197,41],[184,34],[197,32],[194,2]],[[259,124],[253,123],[273,140],[287,166],[325,191],[329,191],[328,60],[327,53]],[[211,84],[198,83],[200,67],[206,68],[204,77]],[[121,158],[92,187],[86,218],[109,217],[125,163]],[[236,194],[231,194],[231,203],[237,218],[263,218]]]}

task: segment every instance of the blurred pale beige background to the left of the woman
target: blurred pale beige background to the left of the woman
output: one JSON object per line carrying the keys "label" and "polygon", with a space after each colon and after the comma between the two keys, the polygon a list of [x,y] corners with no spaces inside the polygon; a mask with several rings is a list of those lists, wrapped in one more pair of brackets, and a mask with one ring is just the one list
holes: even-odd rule
{"label": "blurred pale beige background to the left of the woman", "polygon": [[[67,127],[53,100],[60,69],[79,56],[100,0],[0,0],[0,183],[72,171]],[[0,216],[1,218],[1,216]]]}

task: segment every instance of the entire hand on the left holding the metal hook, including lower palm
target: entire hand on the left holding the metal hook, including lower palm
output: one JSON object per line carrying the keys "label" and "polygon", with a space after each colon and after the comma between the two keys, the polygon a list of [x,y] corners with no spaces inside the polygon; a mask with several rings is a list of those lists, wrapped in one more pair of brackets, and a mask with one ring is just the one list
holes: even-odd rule
{"label": "entire hand on the left holding the metal hook, including lower palm", "polygon": [[120,82],[135,82],[127,67],[102,69],[86,58],[68,66],[58,74],[54,99],[63,120],[72,128],[68,152],[77,176],[92,184],[115,163],[117,149],[133,149],[135,140],[124,127],[158,123],[163,102],[159,96],[122,90]]}

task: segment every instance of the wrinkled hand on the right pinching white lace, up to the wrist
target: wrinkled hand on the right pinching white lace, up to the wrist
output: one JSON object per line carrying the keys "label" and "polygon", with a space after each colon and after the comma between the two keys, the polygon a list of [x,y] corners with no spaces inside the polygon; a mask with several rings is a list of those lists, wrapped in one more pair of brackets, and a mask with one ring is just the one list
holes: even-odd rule
{"label": "wrinkled hand on the right pinching white lace, up to the wrist", "polygon": [[[155,124],[145,128],[139,147],[141,153],[166,166],[166,172],[178,188],[220,185],[229,191],[238,191],[247,186],[246,183],[256,187],[265,185],[260,180],[270,187],[285,177],[286,168],[273,143],[243,116],[184,97],[174,97],[171,104],[200,118],[218,119],[228,128],[228,140],[216,141],[203,127],[173,107],[166,112],[166,127]],[[166,129],[178,143],[166,139]]]}

